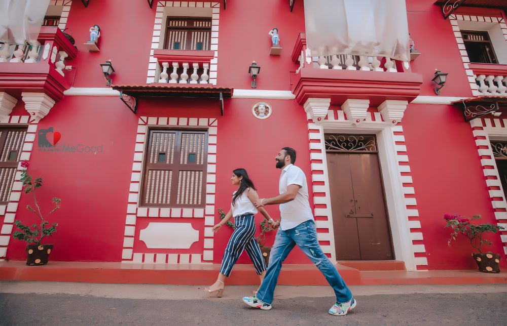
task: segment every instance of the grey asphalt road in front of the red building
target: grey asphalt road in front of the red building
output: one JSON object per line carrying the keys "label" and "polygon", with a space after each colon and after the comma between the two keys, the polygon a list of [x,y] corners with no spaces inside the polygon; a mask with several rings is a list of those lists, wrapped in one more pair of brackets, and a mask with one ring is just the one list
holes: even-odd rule
{"label": "grey asphalt road in front of the red building", "polygon": [[[480,291],[471,286],[470,290]],[[438,291],[438,290],[437,290]],[[326,294],[327,295],[327,294]],[[347,316],[327,313],[333,297],[282,296],[273,309],[239,297],[162,300],[76,294],[0,293],[1,325],[505,325],[507,291],[357,295]]]}

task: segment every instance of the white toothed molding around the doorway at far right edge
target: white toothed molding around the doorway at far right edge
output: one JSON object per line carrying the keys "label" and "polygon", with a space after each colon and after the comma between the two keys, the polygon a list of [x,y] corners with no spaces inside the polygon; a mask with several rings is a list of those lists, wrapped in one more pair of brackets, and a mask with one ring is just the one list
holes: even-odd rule
{"label": "white toothed molding around the doorway at far right edge", "polygon": [[[502,123],[503,126],[502,127]],[[496,166],[495,155],[491,148],[491,137],[507,140],[507,119],[477,118],[470,121],[472,133],[477,145],[479,158],[483,167],[484,179],[488,187],[496,222],[498,226],[505,226],[507,223],[507,201]],[[503,242],[503,251],[507,255],[507,232],[500,231],[500,239]]]}

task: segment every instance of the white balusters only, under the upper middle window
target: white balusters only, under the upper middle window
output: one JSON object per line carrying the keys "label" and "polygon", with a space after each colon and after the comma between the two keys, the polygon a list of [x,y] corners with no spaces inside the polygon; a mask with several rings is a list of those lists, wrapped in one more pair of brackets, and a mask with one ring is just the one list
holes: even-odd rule
{"label": "white balusters only, under the upper middle window", "polygon": [[[169,62],[162,62],[162,72],[160,72],[158,82],[169,84],[208,84],[209,63],[194,62],[190,64],[189,62],[183,62],[183,71],[181,71],[181,73],[178,73],[179,67],[180,66],[178,62],[172,62],[172,72],[171,74],[168,74],[167,70],[169,69]],[[203,69],[203,72],[199,76],[198,70],[201,68]],[[192,69],[192,73],[190,75],[189,69]],[[168,77],[170,77],[169,80],[167,80]]]}

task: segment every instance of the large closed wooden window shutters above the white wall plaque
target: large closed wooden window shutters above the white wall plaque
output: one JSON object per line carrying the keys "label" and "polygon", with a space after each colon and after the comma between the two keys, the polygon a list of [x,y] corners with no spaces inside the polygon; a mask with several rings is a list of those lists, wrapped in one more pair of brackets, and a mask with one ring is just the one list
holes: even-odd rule
{"label": "large closed wooden window shutters above the white wall plaque", "polygon": [[207,131],[150,130],[141,205],[205,206]]}

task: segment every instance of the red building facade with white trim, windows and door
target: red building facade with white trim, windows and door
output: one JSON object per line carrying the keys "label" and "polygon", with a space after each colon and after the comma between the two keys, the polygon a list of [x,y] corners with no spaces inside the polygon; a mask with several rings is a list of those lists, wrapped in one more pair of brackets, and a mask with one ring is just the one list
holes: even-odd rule
{"label": "red building facade with white trim, windows and door", "polygon": [[[466,239],[447,246],[443,215],[507,226],[507,22],[497,2],[455,6],[444,19],[446,6],[407,0],[420,53],[410,62],[309,56],[303,1],[85,3],[50,2],[39,52],[0,50],[0,259],[24,259],[13,223],[36,221],[22,160],[44,179],[43,208],[62,199],[49,219],[58,261],[220,263],[232,230],[211,227],[230,206],[232,171],[245,168],[261,197],[274,196],[284,146],[298,152],[333,261],[472,269]],[[99,51],[85,44],[95,24]],[[99,67],[107,60],[112,87]],[[436,69],[448,73],[440,95]],[[488,239],[507,267],[507,232]],[[287,262],[309,263],[299,250]]]}

